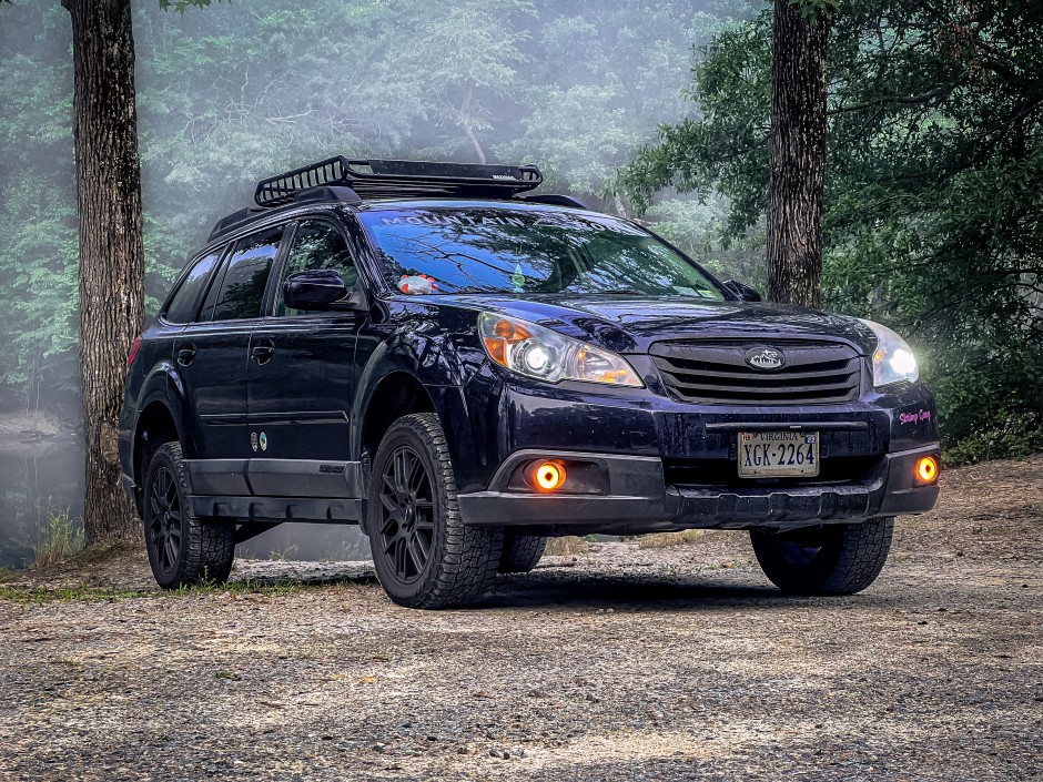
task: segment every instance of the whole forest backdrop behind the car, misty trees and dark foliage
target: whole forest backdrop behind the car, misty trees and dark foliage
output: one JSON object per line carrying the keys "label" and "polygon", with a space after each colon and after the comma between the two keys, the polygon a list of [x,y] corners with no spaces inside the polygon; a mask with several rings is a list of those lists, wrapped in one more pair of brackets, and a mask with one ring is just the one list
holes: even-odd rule
{"label": "whole forest backdrop behind the car, misty trees and dark foliage", "polygon": [[[1041,13],[832,13],[824,306],[909,338],[950,464],[1043,447]],[[536,162],[762,290],[770,30],[739,0],[135,2],[148,309],[257,179],[332,154]],[[57,429],[79,415],[70,49],[55,0],[3,8],[0,416]],[[0,512],[28,496],[4,473]]]}

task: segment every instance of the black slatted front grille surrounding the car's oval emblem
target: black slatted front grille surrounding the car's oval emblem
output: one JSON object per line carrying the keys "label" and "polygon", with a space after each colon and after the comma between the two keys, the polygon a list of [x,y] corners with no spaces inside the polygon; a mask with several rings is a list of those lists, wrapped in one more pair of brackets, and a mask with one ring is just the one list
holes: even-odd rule
{"label": "black slatted front grille surrounding the car's oval emblem", "polygon": [[[746,363],[752,348],[781,352],[779,369]],[[803,339],[660,342],[649,349],[662,382],[683,402],[705,405],[821,405],[859,397],[862,357],[852,347]]]}

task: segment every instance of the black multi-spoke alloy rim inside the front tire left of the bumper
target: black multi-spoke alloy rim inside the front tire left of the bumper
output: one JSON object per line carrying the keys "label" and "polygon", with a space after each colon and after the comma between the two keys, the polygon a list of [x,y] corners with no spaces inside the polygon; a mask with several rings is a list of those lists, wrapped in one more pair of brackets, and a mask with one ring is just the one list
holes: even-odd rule
{"label": "black multi-spoke alloy rim inside the front tire left of the bumper", "polygon": [[411,446],[398,446],[381,476],[381,547],[402,583],[415,582],[431,560],[435,499],[431,476]]}

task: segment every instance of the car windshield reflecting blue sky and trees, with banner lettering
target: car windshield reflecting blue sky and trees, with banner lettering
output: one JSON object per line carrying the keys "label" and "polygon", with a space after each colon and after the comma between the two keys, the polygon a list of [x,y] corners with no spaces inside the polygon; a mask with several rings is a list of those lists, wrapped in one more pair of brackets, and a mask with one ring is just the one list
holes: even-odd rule
{"label": "car windshield reflecting blue sky and trees, with banner lettering", "polygon": [[363,212],[384,276],[403,293],[635,294],[722,301],[720,288],[622,220],[540,207]]}

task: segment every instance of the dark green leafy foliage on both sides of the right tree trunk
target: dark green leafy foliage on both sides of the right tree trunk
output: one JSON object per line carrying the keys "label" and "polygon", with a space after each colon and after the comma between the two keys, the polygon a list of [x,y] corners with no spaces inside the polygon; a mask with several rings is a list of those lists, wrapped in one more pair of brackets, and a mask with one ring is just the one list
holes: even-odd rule
{"label": "dark green leafy foliage on both sides of the right tree trunk", "polygon": [[[830,21],[827,306],[910,338],[954,458],[1039,448],[1043,7],[860,0]],[[760,224],[770,39],[764,12],[705,50],[702,115],[621,173],[635,203],[717,190],[727,234]]]}

